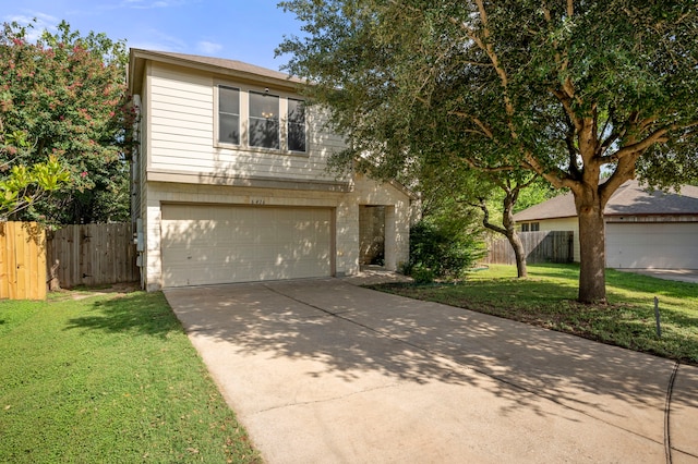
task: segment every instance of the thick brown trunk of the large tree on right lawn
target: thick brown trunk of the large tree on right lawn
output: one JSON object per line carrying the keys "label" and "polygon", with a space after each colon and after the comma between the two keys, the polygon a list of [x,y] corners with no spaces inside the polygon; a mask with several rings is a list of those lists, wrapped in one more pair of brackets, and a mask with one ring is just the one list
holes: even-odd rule
{"label": "thick brown trunk of the large tree on right lawn", "polygon": [[586,304],[606,302],[606,246],[603,207],[595,195],[579,199],[579,302]]}

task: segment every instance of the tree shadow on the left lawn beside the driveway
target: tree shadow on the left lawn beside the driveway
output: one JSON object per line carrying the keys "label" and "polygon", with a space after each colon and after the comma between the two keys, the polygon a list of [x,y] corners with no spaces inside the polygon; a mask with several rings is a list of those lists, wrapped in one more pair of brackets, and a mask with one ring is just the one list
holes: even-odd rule
{"label": "tree shadow on the left lawn beside the driveway", "polygon": [[165,337],[181,325],[159,292],[133,292],[93,303],[89,316],[68,321],[67,330],[91,329],[109,333]]}

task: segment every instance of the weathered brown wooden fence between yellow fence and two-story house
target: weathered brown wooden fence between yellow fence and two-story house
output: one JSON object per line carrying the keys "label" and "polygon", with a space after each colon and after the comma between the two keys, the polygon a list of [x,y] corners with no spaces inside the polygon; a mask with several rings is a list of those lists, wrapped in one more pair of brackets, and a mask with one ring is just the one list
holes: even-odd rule
{"label": "weathered brown wooden fence between yellow fence and two-story house", "polygon": [[67,225],[48,236],[49,289],[139,280],[133,224]]}

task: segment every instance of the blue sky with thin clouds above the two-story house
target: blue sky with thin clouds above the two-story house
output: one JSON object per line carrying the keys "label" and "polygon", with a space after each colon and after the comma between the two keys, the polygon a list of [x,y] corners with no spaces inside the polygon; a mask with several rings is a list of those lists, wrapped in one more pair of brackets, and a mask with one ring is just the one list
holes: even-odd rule
{"label": "blue sky with thin clouds above the two-story house", "polygon": [[147,50],[203,54],[279,70],[274,58],[284,36],[300,35],[293,13],[279,0],[0,0],[0,20],[56,32],[65,20],[81,35],[106,33]]}

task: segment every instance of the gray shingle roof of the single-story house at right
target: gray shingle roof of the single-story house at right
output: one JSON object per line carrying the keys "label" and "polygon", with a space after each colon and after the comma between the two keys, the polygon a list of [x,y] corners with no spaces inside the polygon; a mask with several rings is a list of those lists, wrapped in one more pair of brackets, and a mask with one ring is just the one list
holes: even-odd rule
{"label": "gray shingle roof of the single-story house at right", "polygon": [[[611,197],[605,216],[698,215],[698,187],[684,185],[681,193],[648,193],[637,181],[623,184]],[[516,221],[576,217],[571,193],[532,206],[514,215]]]}

